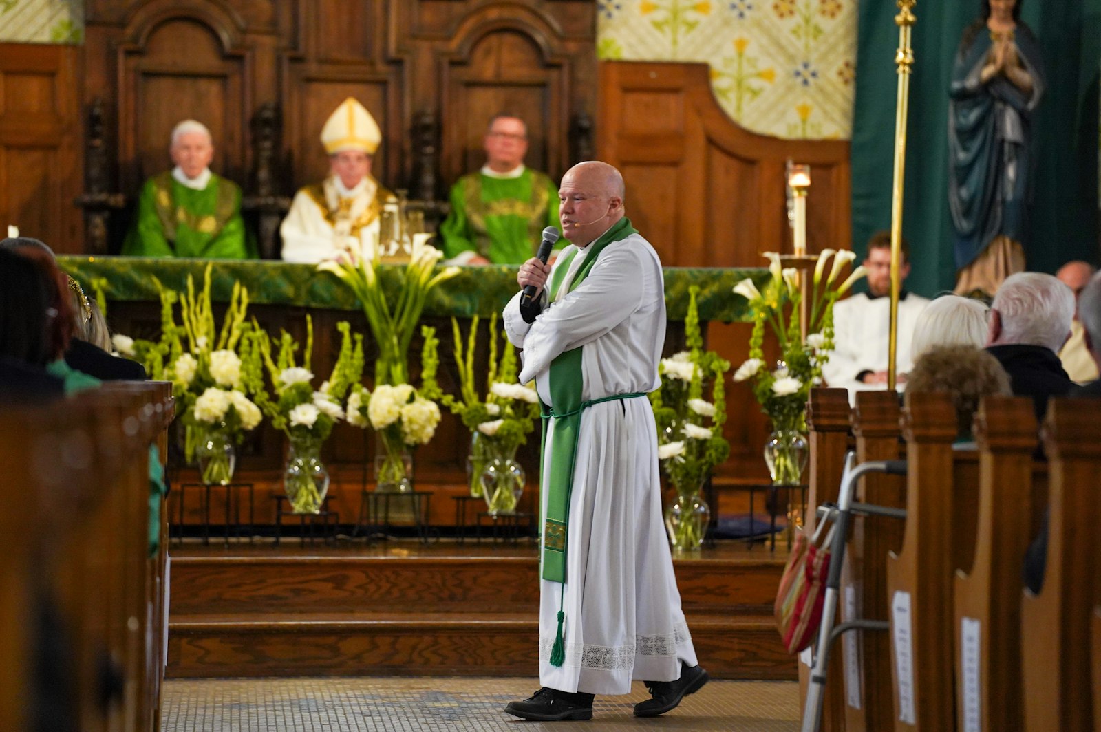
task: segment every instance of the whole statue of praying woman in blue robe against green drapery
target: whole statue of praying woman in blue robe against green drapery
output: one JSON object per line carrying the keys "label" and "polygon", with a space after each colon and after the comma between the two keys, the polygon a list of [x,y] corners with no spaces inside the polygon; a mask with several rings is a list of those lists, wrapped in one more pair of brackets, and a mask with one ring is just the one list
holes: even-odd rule
{"label": "whole statue of praying woman in blue robe against green drapery", "polygon": [[1025,269],[1032,120],[1044,96],[1044,64],[1021,2],[982,0],[952,68],[948,201],[962,295],[993,295]]}

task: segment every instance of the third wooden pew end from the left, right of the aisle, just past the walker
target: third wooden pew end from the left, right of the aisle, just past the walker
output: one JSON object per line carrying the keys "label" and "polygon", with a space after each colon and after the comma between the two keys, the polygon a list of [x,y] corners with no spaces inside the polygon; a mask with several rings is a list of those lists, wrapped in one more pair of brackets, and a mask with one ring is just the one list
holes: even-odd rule
{"label": "third wooden pew end from the left, right of the aisle, just past the walker", "polygon": [[894,729],[956,725],[950,619],[956,411],[947,394],[906,394],[906,522],[887,558]]}

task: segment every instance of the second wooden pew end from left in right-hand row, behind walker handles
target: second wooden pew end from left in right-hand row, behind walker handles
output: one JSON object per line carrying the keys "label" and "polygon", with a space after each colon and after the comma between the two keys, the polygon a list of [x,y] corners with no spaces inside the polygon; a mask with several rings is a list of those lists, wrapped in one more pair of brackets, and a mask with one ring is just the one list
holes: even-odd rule
{"label": "second wooden pew end from left in right-hand row, behind walker handles", "polygon": [[[857,392],[852,431],[858,463],[897,460],[902,452],[901,407],[894,392]],[[857,500],[904,509],[906,481],[901,476],[873,473],[861,479]],[[842,575],[842,620],[887,619],[886,557],[902,545],[903,524],[881,516],[858,516],[849,539]],[[890,637],[886,633],[851,631],[839,641],[844,658],[846,729],[886,730],[892,724]]]}

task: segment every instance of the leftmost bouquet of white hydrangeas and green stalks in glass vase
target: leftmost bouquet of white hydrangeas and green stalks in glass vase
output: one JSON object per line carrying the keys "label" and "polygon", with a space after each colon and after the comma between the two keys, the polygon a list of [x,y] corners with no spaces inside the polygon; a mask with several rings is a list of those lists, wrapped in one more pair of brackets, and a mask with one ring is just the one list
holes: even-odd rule
{"label": "leftmost bouquet of white hydrangeas and green stalks in glass vase", "polygon": [[[187,460],[198,458],[203,482],[228,483],[236,466],[233,447],[262,419],[260,408],[244,393],[242,374],[248,365],[238,352],[252,327],[244,320],[249,293],[240,283],[233,285],[219,329],[210,302],[210,265],[198,292],[190,276],[186,293],[167,289],[159,281],[156,286],[161,297],[161,339],[131,340],[118,336],[115,346],[141,360],[153,379],[172,382],[178,405],[176,414],[185,428]],[[176,324],[177,303],[182,325]]]}

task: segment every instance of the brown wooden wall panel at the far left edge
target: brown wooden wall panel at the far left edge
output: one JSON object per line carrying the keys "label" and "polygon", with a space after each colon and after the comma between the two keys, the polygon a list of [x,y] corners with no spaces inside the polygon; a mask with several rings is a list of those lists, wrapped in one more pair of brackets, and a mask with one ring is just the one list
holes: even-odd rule
{"label": "brown wooden wall panel at the far left edge", "polygon": [[79,252],[79,48],[0,44],[0,236],[9,223]]}

